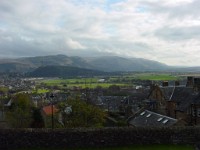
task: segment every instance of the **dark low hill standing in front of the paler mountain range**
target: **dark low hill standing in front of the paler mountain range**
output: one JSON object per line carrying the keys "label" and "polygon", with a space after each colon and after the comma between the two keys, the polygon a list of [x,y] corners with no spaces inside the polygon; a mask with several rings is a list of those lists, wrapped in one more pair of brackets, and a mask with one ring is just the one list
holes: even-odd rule
{"label": "dark low hill standing in front of the paler mountain range", "polygon": [[31,77],[75,77],[106,75],[106,72],[70,66],[44,66],[27,73]]}

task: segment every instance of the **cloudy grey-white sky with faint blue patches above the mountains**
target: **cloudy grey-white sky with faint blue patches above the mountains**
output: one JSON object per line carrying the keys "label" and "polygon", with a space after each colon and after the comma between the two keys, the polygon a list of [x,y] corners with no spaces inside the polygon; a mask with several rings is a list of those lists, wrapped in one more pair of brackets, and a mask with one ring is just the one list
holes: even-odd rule
{"label": "cloudy grey-white sky with faint blue patches above the mountains", "polygon": [[0,57],[121,56],[200,65],[199,0],[0,0]]}

